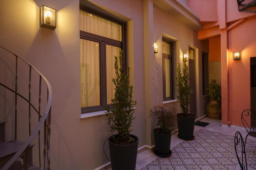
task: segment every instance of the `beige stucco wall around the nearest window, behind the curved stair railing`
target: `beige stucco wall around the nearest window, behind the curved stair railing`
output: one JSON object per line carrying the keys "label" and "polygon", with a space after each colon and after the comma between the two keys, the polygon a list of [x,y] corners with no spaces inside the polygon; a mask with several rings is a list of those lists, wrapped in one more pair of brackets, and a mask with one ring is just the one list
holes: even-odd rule
{"label": "beige stucco wall around the nearest window, behind the curved stair railing", "polygon": [[[127,61],[131,67],[131,84],[134,85],[134,99],[137,100],[133,134],[139,137],[139,147],[145,145],[144,109],[144,49],[143,49],[143,2],[142,1],[91,1],[98,11],[127,22]],[[83,3],[83,2],[80,2]],[[79,1],[1,1],[0,45],[22,56],[44,74],[52,86],[51,114],[51,169],[95,169],[108,160],[103,154],[103,143],[109,137],[105,116],[80,119],[80,48],[79,48]],[[50,30],[40,27],[40,7],[57,9],[57,28]],[[104,9],[103,7],[104,6]],[[2,60],[2,58],[1,58]],[[136,62],[133,62],[136,60]],[[14,60],[13,60],[14,61]],[[7,63],[11,64],[11,62]],[[27,69],[27,68],[25,68]],[[10,69],[12,70],[12,69]],[[20,91],[27,91],[26,83],[20,84]],[[22,82],[22,74],[18,72]],[[11,73],[14,76],[14,72]],[[2,76],[2,74],[1,74]],[[3,77],[4,78],[4,77]],[[13,77],[12,77],[13,78]],[[14,79],[12,79],[14,80]],[[14,87],[14,81],[9,83]],[[33,78],[32,87],[38,88]],[[13,97],[1,87],[1,94],[11,95],[1,107],[1,119],[8,120],[7,140],[14,140]],[[27,97],[27,94],[24,94]],[[38,102],[38,91],[35,106]],[[42,98],[45,97],[42,95]],[[44,98],[46,99],[46,97]],[[43,99],[42,99],[43,100]],[[1,101],[4,99],[1,97]],[[2,102],[4,103],[4,102]],[[1,105],[2,105],[1,103]],[[10,104],[8,104],[10,103]],[[43,105],[43,103],[41,104]],[[27,104],[18,101],[19,127],[18,140],[28,137]],[[42,107],[43,108],[43,107]],[[31,120],[37,121],[38,117]],[[36,124],[35,124],[36,125]],[[33,127],[35,127],[33,125]],[[41,132],[41,144],[42,141]],[[34,141],[38,145],[37,139]],[[43,148],[43,147],[41,147]],[[106,147],[107,153],[108,147]],[[42,152],[41,152],[42,153]],[[35,149],[34,162],[38,165]]]}

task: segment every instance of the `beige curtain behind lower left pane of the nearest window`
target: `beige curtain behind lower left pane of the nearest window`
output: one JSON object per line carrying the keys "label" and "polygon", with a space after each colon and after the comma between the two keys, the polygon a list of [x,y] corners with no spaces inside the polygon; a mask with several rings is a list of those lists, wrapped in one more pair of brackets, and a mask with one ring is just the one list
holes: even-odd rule
{"label": "beige curtain behind lower left pane of the nearest window", "polygon": [[100,44],[80,38],[81,107],[100,105]]}

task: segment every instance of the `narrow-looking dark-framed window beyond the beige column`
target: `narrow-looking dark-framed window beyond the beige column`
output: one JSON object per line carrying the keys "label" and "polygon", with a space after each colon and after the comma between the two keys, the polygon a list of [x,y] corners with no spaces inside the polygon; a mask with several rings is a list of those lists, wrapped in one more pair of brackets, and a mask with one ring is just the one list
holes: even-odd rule
{"label": "narrow-looking dark-framed window beyond the beige column", "polygon": [[165,100],[173,99],[173,44],[167,40],[162,41],[163,51],[163,97]]}

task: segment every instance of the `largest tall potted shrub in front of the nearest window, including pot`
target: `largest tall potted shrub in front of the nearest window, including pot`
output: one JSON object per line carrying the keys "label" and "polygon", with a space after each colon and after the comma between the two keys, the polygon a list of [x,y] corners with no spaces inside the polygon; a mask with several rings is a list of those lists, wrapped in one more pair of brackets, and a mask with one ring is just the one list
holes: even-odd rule
{"label": "largest tall potted shrub in front of the nearest window, including pot", "polygon": [[111,167],[113,170],[133,170],[136,167],[139,141],[137,136],[130,134],[133,131],[131,127],[135,119],[133,109],[136,101],[132,99],[133,86],[129,86],[130,68],[127,68],[126,74],[123,72],[122,54],[123,51],[120,51],[119,57],[115,56],[115,77],[112,80],[115,94],[111,99],[112,108],[105,107],[105,113],[112,133],[108,139]]}

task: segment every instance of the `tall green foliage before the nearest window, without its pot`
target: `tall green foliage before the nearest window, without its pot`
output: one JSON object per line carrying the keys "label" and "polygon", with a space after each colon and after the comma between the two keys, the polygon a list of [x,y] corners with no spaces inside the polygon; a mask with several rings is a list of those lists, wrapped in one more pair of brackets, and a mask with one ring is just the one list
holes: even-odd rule
{"label": "tall green foliage before the nearest window, without its pot", "polygon": [[[128,67],[124,74],[122,66],[123,51],[121,50],[119,57],[115,56],[115,77],[112,80],[115,85],[115,94],[111,99],[112,109],[109,106],[105,107],[105,113],[110,126],[109,132],[112,133],[111,140],[118,145],[129,145],[135,142],[130,132],[133,131],[132,121],[136,118],[133,117],[133,109],[137,102],[132,99],[133,86],[129,86],[130,68]],[[118,135],[114,136],[114,132]]]}

